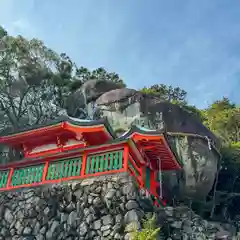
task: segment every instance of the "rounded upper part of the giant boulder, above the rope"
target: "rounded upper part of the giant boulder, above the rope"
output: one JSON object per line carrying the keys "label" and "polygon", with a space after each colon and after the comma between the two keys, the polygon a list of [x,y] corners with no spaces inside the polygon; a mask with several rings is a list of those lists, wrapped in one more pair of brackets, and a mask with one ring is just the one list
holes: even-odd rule
{"label": "rounded upper part of the giant boulder, above the rope", "polygon": [[[140,117],[141,121],[147,118],[147,124],[151,122],[155,125],[156,118],[161,114],[167,132],[206,136],[217,143],[215,135],[184,108],[170,102],[160,102],[134,89],[124,88],[106,92],[96,100],[95,104],[96,109],[110,119],[113,128],[116,128],[116,120],[128,121],[131,125],[132,118],[136,119],[136,117]],[[122,119],[116,119],[116,115],[119,114],[122,115]]]}

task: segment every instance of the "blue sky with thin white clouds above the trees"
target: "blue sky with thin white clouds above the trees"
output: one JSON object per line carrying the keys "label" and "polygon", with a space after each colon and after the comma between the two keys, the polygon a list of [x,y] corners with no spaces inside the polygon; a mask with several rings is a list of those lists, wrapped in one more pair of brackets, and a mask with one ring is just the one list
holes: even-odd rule
{"label": "blue sky with thin white clouds above the trees", "polygon": [[131,88],[164,83],[240,103],[239,0],[0,0],[0,25]]}

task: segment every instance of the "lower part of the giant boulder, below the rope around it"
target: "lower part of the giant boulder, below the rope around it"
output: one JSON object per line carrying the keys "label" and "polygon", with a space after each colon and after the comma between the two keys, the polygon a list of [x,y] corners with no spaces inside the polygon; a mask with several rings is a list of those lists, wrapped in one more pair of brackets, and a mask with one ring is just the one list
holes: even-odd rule
{"label": "lower part of the giant boulder, below the rope around it", "polygon": [[169,143],[183,170],[165,172],[164,185],[178,198],[204,199],[215,181],[219,155],[199,137],[169,136]]}

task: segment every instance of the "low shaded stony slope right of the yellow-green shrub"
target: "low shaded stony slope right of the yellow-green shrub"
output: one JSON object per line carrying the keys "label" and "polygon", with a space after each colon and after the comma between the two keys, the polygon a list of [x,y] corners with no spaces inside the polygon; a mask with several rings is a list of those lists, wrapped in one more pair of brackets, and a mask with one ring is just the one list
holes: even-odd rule
{"label": "low shaded stony slope right of the yellow-green shrub", "polygon": [[186,206],[159,208],[156,214],[158,224],[163,226],[162,233],[165,232],[169,240],[230,240],[236,234],[234,227],[206,221]]}

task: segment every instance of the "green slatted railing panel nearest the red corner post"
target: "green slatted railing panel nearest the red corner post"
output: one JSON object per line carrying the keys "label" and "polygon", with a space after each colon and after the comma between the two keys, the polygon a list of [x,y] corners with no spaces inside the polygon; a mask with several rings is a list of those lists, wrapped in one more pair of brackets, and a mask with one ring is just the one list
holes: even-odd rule
{"label": "green slatted railing panel nearest the red corner post", "polygon": [[87,158],[85,174],[94,174],[123,167],[123,151],[109,152],[99,155],[90,155]]}

